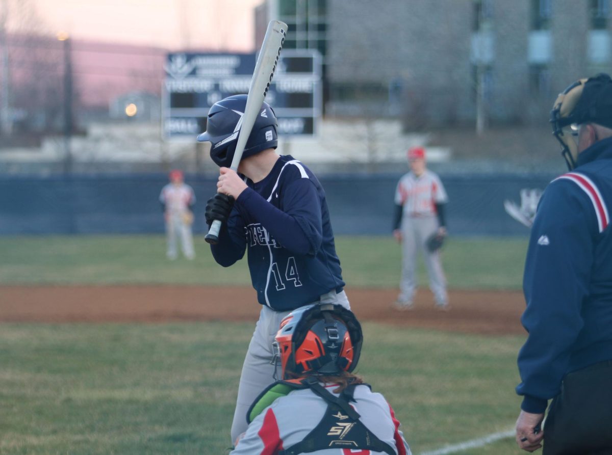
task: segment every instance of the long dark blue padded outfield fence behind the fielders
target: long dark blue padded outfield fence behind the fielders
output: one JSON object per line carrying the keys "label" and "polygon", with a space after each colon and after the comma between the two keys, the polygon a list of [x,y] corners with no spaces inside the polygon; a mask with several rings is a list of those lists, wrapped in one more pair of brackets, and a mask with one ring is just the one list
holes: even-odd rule
{"label": "long dark blue padded outfield fence behind the fielders", "polygon": [[[336,234],[390,233],[395,185],[401,174],[325,175],[320,180]],[[543,190],[551,174],[440,175],[450,202],[453,235],[526,235],[504,209],[521,205],[521,190]],[[198,201],[196,233],[206,232],[204,206],[216,179],[185,177]],[[163,232],[159,193],[165,174],[0,176],[0,234],[130,234]],[[523,196],[524,196],[523,194]],[[525,198],[523,198],[525,199]],[[533,198],[532,198],[533,199]],[[534,203],[531,200],[531,205]],[[523,209],[525,206],[523,201]]]}

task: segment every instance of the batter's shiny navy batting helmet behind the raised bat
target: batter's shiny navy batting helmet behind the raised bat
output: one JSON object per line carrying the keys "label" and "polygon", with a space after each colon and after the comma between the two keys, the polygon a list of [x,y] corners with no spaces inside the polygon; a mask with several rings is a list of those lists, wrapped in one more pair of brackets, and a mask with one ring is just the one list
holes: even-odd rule
{"label": "batter's shiny navy batting helmet behind the raised bat", "polygon": [[[211,142],[211,158],[218,166],[231,165],[246,105],[247,95],[234,95],[215,103],[208,111],[206,131],[198,136],[198,141]],[[264,102],[242,157],[250,157],[265,149],[275,149],[278,146],[277,125],[274,111]]]}

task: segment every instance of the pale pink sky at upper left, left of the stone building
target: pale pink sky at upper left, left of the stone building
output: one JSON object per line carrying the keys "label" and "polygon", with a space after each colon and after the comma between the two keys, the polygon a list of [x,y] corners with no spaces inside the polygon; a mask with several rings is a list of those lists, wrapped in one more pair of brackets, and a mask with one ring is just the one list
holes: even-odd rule
{"label": "pale pink sky at upper left, left of the stone building", "polygon": [[[18,2],[18,3],[15,3]],[[253,7],[264,0],[12,0],[29,4],[47,31],[75,40],[178,50],[252,51]],[[12,18],[17,15],[13,14]],[[11,12],[9,11],[9,20]]]}

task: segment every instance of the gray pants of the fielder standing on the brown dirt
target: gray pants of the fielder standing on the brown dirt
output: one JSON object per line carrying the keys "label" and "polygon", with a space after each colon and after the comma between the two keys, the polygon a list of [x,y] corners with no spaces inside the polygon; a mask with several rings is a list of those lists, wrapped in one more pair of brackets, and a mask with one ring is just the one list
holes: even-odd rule
{"label": "gray pants of the fielder standing on the brown dirt", "polygon": [[436,216],[403,216],[401,220],[401,281],[398,301],[412,302],[416,289],[417,253],[421,251],[425,258],[425,267],[429,276],[429,287],[436,300],[436,305],[448,303],[446,278],[442,271],[440,252],[427,250],[427,238],[438,231]]}

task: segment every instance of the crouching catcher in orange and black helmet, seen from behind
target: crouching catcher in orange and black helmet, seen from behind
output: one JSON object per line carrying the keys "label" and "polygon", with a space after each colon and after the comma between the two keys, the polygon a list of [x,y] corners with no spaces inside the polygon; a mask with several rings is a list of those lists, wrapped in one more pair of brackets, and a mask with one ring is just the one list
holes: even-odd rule
{"label": "crouching catcher in orange and black helmet, seen from behind", "polygon": [[410,455],[393,409],[352,373],[362,339],[359,322],[341,305],[289,313],[274,343],[283,379],[253,402],[230,455]]}

